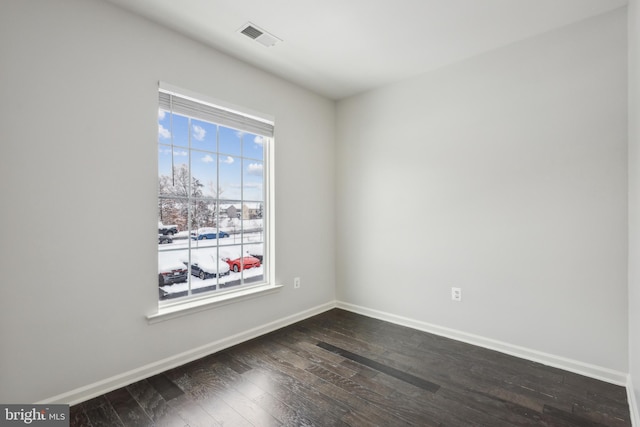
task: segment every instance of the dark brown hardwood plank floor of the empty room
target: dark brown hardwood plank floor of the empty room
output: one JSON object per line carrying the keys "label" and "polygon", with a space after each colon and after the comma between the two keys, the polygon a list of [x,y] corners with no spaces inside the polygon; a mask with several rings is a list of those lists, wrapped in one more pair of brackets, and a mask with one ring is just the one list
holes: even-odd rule
{"label": "dark brown hardwood plank floor of the empty room", "polygon": [[626,390],[334,309],[71,407],[71,426],[631,426]]}

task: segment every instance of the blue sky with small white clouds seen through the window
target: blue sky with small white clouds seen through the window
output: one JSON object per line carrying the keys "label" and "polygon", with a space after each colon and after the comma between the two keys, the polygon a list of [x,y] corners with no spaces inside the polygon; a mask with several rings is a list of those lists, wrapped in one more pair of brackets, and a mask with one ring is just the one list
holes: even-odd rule
{"label": "blue sky with small white clouds seen through the window", "polygon": [[[191,133],[191,150],[189,150]],[[173,137],[173,138],[172,138]],[[173,139],[173,141],[172,141]],[[263,138],[224,126],[159,111],[158,173],[171,174],[171,147],[175,166],[188,165],[191,151],[191,175],[204,184],[203,192],[221,198],[263,200]],[[169,144],[169,145],[165,145]],[[217,181],[219,178],[219,181]],[[242,189],[244,187],[244,193]]]}

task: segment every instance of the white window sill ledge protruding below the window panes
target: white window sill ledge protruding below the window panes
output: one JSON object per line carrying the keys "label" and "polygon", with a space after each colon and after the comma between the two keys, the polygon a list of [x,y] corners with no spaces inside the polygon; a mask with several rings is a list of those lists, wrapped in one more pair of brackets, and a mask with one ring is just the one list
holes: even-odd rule
{"label": "white window sill ledge protruding below the window panes", "polygon": [[227,304],[234,304],[236,302],[272,294],[279,291],[281,288],[282,285],[277,284],[259,285],[224,294],[210,295],[198,299],[190,299],[188,301],[163,305],[158,308],[156,313],[147,316],[147,322],[149,324],[154,324],[174,319],[176,317],[197,313],[199,311],[209,310]]}

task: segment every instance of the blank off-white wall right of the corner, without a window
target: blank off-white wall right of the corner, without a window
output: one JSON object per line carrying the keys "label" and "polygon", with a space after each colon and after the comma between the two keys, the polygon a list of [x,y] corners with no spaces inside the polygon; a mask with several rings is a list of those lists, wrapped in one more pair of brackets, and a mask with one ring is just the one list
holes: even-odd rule
{"label": "blank off-white wall right of the corner, without a window", "polygon": [[627,372],[626,36],[619,9],[340,101],[338,300]]}

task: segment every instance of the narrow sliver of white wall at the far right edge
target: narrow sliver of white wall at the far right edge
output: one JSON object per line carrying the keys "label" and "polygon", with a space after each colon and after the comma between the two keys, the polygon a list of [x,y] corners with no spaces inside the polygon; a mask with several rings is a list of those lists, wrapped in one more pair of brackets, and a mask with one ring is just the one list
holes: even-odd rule
{"label": "narrow sliver of white wall at the far right edge", "polygon": [[636,421],[640,402],[640,2],[629,14],[629,372],[634,387]]}

